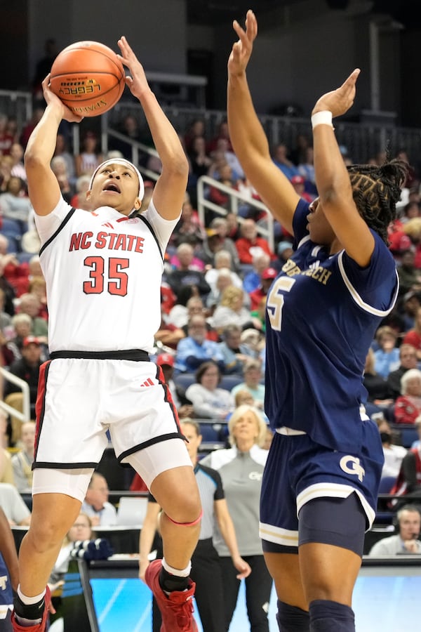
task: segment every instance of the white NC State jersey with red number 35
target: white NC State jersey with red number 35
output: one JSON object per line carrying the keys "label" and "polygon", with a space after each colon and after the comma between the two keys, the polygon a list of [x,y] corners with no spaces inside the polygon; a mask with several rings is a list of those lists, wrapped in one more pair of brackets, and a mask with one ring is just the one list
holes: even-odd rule
{"label": "white NC State jersey with red number 35", "polygon": [[109,206],[72,209],[63,199],[36,216],[51,352],[150,353],[161,324],[163,254],[177,222],[152,202],[142,218]]}

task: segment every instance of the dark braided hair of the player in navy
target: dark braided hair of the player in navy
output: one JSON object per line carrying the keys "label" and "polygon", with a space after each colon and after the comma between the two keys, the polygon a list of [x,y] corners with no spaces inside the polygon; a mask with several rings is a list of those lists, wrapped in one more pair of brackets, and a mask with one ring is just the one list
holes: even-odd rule
{"label": "dark braided hair of the player in navy", "polygon": [[408,164],[393,159],[379,165],[352,164],[347,167],[352,197],[361,217],[387,244],[387,227],[396,219],[396,202],[408,174]]}

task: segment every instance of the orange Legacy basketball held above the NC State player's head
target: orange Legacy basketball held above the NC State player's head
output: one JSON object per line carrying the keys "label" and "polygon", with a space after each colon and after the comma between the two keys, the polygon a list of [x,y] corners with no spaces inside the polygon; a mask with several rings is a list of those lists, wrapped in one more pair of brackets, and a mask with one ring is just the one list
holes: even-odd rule
{"label": "orange Legacy basketball held above the NC State player's head", "polygon": [[125,85],[123,64],[98,41],[76,41],[57,55],[51,67],[51,91],[82,117],[110,110]]}

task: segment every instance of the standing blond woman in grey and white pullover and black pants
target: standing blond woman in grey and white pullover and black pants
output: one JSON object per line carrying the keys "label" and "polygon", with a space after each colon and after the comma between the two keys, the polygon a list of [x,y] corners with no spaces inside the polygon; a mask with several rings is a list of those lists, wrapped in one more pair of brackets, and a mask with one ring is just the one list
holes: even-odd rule
{"label": "standing blond woman in grey and white pullover and black pants", "polygon": [[[218,470],[221,475],[239,553],[252,570],[245,579],[250,629],[268,632],[267,604],[272,590],[272,578],[265,565],[259,538],[260,487],[267,459],[267,450],[260,446],[265,442],[267,426],[258,409],[243,404],[234,410],[228,422],[228,430],[232,447],[211,452],[201,463]],[[227,632],[236,607],[240,580],[232,568],[228,548],[220,534],[214,535],[213,542],[222,567],[224,630]]]}

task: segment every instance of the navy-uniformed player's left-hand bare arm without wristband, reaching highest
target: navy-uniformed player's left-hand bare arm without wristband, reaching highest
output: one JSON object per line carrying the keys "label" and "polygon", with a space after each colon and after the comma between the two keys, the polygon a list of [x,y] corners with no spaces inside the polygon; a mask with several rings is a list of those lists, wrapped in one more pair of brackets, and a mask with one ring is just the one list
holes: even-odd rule
{"label": "navy-uniformed player's left-hand bare arm without wristband, reaching highest", "polygon": [[229,136],[248,180],[274,217],[292,233],[293,213],[300,197],[288,178],[272,161],[266,134],[255,112],[246,77],[253,41],[258,34],[258,22],[253,11],[247,12],[246,30],[236,20],[233,27],[239,40],[232,46],[228,60]]}

